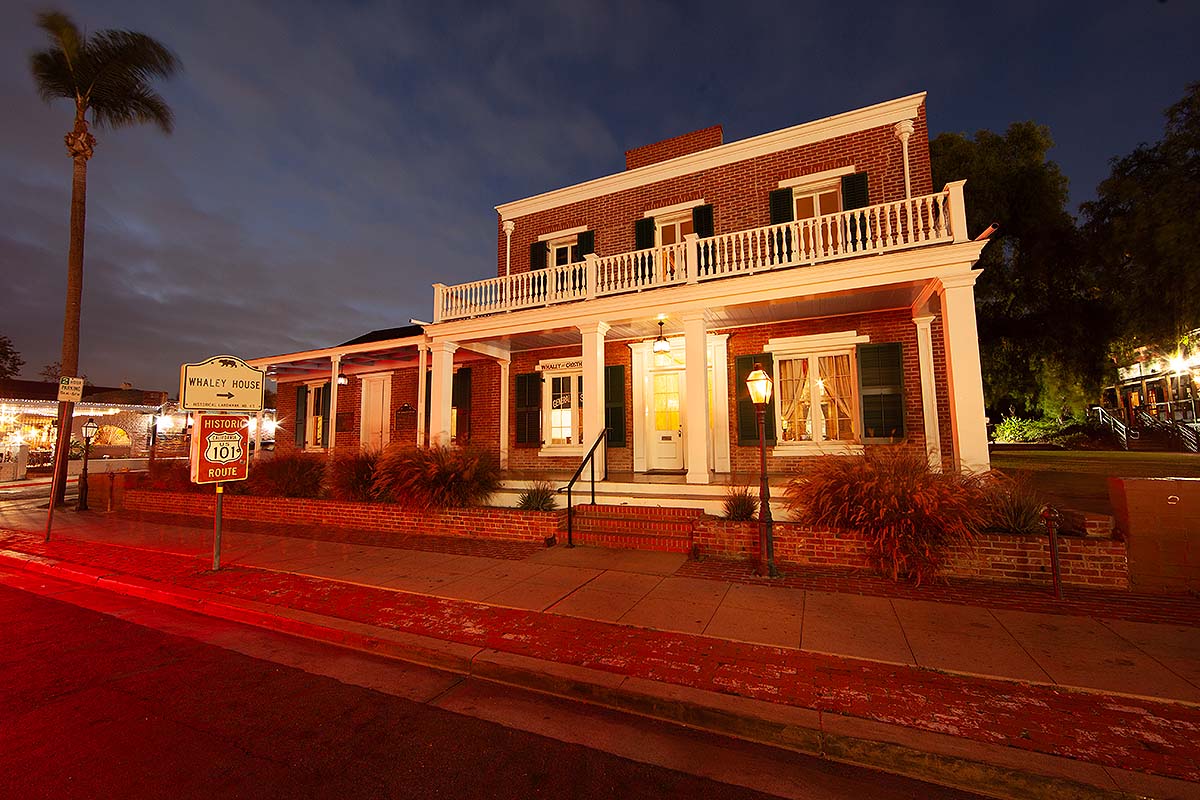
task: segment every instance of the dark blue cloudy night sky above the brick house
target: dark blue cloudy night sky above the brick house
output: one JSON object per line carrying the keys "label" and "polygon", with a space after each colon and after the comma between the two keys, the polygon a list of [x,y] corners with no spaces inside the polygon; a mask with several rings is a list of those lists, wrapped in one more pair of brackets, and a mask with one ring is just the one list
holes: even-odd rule
{"label": "dark blue cloudy night sky above the brick house", "polygon": [[1200,2],[133,2],[0,5],[0,335],[61,349],[71,104],[35,12],[170,47],[175,133],[96,130],[80,369],[178,391],[179,365],[430,319],[496,273],[497,204],[929,92],[930,133],[1050,126],[1073,204],[1200,80]]}

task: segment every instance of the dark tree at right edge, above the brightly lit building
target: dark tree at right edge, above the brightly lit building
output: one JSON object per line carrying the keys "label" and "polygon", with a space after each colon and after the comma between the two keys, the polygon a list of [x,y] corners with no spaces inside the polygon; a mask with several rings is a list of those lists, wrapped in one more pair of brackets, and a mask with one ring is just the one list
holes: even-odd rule
{"label": "dark tree at right edge, above the brightly lit building", "polygon": [[1114,158],[1085,229],[1128,344],[1168,351],[1200,327],[1200,83],[1166,109],[1163,138]]}

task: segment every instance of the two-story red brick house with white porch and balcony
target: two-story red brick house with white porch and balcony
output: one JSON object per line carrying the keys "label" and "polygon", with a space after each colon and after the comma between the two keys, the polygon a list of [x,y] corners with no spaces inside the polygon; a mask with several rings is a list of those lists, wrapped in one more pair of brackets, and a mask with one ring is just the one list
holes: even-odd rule
{"label": "two-story red brick house with white porch and balcony", "polygon": [[880,444],[988,468],[985,242],[962,182],[931,186],[924,94],[625,167],[497,206],[496,277],[434,284],[432,324],[254,360],[290,423],[277,449],[470,443],[536,474],[607,429],[611,475],[720,482],[757,470],[761,365],[772,471]]}

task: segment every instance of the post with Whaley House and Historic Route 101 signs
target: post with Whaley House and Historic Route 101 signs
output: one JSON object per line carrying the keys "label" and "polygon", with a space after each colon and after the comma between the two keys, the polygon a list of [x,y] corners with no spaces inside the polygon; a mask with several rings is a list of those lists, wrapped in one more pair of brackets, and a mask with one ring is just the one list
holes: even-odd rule
{"label": "post with Whaley House and Historic Route 101 signs", "polygon": [[[186,411],[263,410],[266,373],[235,355],[215,355],[179,368],[179,407]],[[192,482],[216,483],[212,570],[221,569],[221,506],[227,481],[250,474],[250,417],[198,414],[192,426]]]}

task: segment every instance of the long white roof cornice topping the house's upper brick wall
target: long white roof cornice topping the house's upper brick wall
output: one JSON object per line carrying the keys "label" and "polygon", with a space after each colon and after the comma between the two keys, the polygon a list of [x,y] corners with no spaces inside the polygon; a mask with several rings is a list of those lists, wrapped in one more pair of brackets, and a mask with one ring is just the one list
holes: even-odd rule
{"label": "long white roof cornice topping the house's upper brick wall", "polygon": [[629,169],[623,173],[596,178],[583,184],[566,186],[542,194],[514,200],[496,206],[502,219],[516,219],[530,213],[557,209],[580,200],[605,194],[613,194],[629,188],[646,186],[658,181],[679,178],[702,169],[712,169],[732,164],[746,158],[755,158],[780,150],[799,148],[814,142],[823,142],[847,133],[868,131],[881,125],[895,125],[901,120],[917,118],[920,104],[925,102],[925,92],[920,91],[907,97],[889,100],[884,103],[868,106],[853,112],[835,114],[812,122],[804,122],[782,131],[773,131],[761,136],[731,142],[719,148],[709,148],[678,158],[661,161],[655,164],[647,164],[637,169]]}

